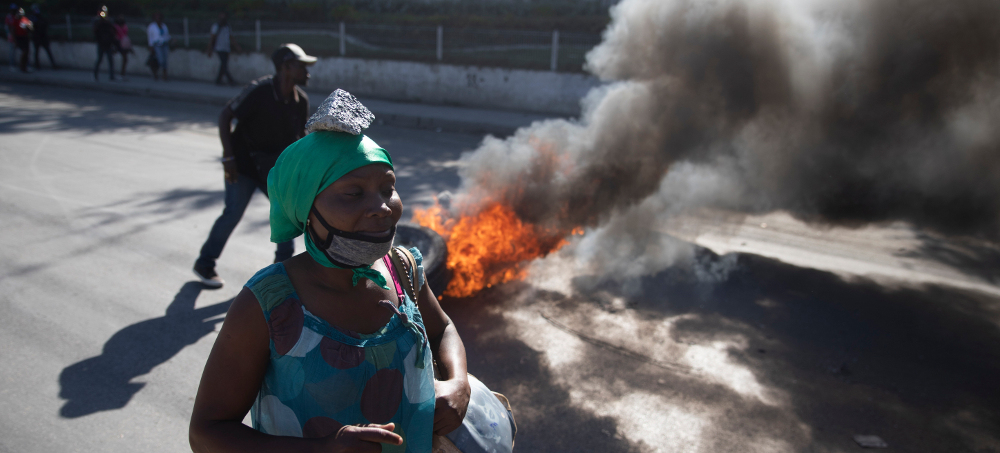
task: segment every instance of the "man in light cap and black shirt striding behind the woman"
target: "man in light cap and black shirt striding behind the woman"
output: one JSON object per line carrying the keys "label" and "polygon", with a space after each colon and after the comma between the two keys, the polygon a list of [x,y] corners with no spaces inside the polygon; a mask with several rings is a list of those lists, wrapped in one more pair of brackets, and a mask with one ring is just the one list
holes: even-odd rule
{"label": "man in light cap and black shirt striding behind the woman", "polygon": [[[195,275],[211,288],[223,284],[215,272],[215,261],[243,217],[250,197],[256,189],[267,195],[267,174],[278,155],[305,136],[309,98],[301,86],[308,82],[306,67],[315,63],[316,57],[306,55],[295,44],[283,44],[271,60],[275,74],[250,82],[219,114],[226,207],[194,264]],[[235,130],[231,126],[233,119],[237,120]],[[293,252],[291,241],[278,244],[274,262],[290,258]]]}

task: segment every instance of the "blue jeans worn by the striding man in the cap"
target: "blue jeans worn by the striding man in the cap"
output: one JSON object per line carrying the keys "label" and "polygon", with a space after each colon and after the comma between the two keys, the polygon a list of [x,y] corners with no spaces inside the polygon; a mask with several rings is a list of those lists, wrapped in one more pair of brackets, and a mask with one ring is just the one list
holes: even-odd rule
{"label": "blue jeans worn by the striding man in the cap", "polygon": [[[212,225],[212,232],[208,233],[205,245],[201,246],[201,256],[194,265],[197,267],[215,268],[215,260],[222,254],[222,248],[226,246],[229,235],[233,234],[236,224],[243,218],[243,212],[250,204],[250,197],[257,190],[257,183],[247,176],[239,175],[235,183],[226,181],[226,208],[222,210],[222,215],[215,220]],[[261,189],[261,192],[264,192]],[[266,196],[266,192],[265,196]],[[278,244],[274,252],[275,261],[284,261],[292,257],[295,253],[295,243],[292,241]]]}

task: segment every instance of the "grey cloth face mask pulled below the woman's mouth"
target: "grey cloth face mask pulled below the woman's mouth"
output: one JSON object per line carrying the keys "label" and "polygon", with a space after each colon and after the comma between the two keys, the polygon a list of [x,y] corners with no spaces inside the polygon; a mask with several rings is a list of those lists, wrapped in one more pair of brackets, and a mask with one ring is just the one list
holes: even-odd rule
{"label": "grey cloth face mask pulled below the woman's mouth", "polygon": [[387,255],[389,250],[392,250],[392,239],[396,236],[395,225],[392,226],[388,236],[376,238],[341,231],[330,226],[323,219],[323,216],[319,215],[319,211],[315,207],[312,208],[312,213],[316,216],[316,220],[323,224],[328,234],[326,240],[321,241],[312,225],[309,225],[309,234],[312,235],[313,242],[323,251],[327,259],[337,267],[344,269],[368,267]]}

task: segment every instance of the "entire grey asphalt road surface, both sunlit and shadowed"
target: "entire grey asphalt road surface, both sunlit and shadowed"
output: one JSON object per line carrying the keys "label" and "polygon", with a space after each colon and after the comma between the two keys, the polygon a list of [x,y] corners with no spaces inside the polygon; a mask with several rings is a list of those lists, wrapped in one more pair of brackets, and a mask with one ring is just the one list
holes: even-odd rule
{"label": "entire grey asphalt road surface, both sunlit and shadowed", "polygon": [[[216,108],[0,84],[0,451],[187,450],[197,380],[239,284],[271,260],[266,203],[219,263]],[[479,137],[379,127],[404,203],[458,184]],[[906,225],[815,230],[696,213],[699,265],[594,287],[559,257],[445,300],[518,451],[1000,452],[1000,248]],[[301,250],[301,246],[299,247]],[[715,275],[706,280],[705,273]]]}

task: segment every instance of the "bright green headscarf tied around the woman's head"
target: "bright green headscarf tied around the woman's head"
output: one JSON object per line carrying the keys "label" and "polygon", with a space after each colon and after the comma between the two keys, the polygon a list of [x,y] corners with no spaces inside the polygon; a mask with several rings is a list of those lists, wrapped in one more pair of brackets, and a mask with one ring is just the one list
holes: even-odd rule
{"label": "bright green headscarf tied around the woman's head", "polygon": [[[392,167],[392,158],[365,135],[317,131],[285,148],[267,175],[267,192],[271,199],[271,242],[290,241],[305,233],[306,220],[316,195],[342,176],[370,164]],[[306,234],[305,241],[306,251],[317,263],[343,269],[327,259],[310,235]],[[353,271],[354,285],[361,278],[367,278],[389,289],[385,277],[371,266]]]}

